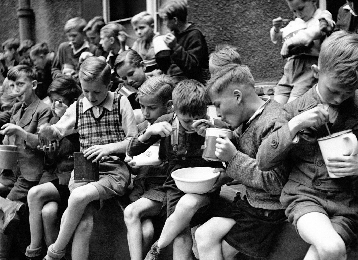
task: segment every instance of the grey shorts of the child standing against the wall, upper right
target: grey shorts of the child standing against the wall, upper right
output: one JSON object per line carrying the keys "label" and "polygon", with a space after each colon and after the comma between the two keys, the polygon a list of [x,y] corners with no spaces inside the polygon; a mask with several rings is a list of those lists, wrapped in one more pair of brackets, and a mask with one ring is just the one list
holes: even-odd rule
{"label": "grey shorts of the child standing against the wall, upper right", "polygon": [[313,64],[318,64],[318,57],[301,55],[289,59],[284,67],[284,76],[275,88],[275,95],[301,97],[310,90],[318,82],[311,69]]}

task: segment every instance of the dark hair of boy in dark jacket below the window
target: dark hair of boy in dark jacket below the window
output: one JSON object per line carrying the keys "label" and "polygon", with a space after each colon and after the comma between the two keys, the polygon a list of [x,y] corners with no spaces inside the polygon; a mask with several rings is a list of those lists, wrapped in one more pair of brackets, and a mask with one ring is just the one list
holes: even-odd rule
{"label": "dark hair of boy in dark jacket below the window", "polygon": [[178,18],[179,21],[186,21],[188,16],[188,3],[185,0],[167,1],[158,11],[159,16],[168,17],[168,19]]}

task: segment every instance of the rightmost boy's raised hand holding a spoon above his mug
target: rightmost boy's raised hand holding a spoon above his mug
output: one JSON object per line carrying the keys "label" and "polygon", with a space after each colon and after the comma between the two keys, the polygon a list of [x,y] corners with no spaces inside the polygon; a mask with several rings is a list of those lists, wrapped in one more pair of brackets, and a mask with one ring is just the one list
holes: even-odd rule
{"label": "rightmost boy's raised hand holding a spoon above his mug", "polygon": [[302,112],[289,121],[291,137],[297,134],[301,128],[319,127],[328,121],[328,112],[323,109],[322,104],[318,104],[313,109]]}

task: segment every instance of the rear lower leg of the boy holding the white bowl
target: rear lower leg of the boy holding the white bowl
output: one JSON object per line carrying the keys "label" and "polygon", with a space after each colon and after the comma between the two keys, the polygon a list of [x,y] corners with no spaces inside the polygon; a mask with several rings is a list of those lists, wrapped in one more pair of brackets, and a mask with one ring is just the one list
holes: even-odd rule
{"label": "rear lower leg of the boy holding the white bowl", "polygon": [[173,260],[193,259],[193,240],[190,227],[187,226],[173,240]]}

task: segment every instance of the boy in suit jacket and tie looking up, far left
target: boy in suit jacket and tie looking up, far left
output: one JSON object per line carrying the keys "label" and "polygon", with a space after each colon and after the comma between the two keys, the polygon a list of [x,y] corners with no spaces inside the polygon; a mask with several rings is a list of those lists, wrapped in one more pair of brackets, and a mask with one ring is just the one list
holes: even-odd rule
{"label": "boy in suit jacket and tie looking up, far left", "polygon": [[8,236],[11,228],[19,222],[18,213],[24,211],[28,191],[41,178],[44,153],[37,150],[39,141],[35,133],[52,117],[50,107],[35,95],[37,81],[32,68],[15,66],[9,70],[8,78],[14,82],[12,91],[19,102],[12,107],[10,123],[1,126],[0,134],[5,135],[3,144],[18,146],[18,166],[15,170],[3,170],[0,176],[0,186],[10,191],[6,199],[0,197],[0,209],[4,212],[0,228],[5,235],[0,240],[0,250],[5,251],[9,250],[5,240],[11,239]]}

